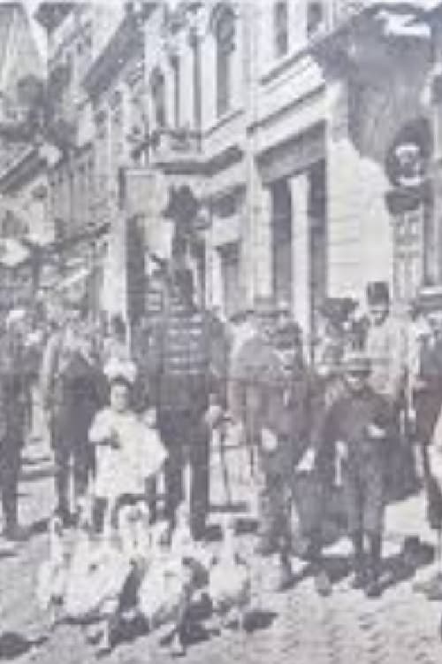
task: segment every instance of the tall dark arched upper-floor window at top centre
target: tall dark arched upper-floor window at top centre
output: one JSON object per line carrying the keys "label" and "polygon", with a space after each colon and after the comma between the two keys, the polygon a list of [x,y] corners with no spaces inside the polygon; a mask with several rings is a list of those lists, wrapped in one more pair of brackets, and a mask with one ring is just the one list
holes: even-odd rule
{"label": "tall dark arched upper-floor window at top centre", "polygon": [[215,26],[217,40],[217,116],[224,115],[231,106],[232,53],[235,49],[235,17],[226,7]]}

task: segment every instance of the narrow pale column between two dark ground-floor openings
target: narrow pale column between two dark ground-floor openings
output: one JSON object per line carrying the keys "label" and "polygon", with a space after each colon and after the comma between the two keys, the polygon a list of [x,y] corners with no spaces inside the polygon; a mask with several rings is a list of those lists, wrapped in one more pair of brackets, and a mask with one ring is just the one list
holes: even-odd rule
{"label": "narrow pale column between two dark ground-floor openings", "polygon": [[291,178],[293,314],[304,337],[311,333],[309,173]]}

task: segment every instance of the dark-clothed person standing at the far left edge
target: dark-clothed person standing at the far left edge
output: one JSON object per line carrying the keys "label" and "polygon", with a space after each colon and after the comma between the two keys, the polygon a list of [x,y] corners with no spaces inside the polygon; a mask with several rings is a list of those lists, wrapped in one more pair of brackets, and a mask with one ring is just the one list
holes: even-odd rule
{"label": "dark-clothed person standing at the far left edge", "polygon": [[25,535],[18,522],[18,484],[21,451],[25,444],[27,374],[23,339],[12,321],[0,338],[0,487],[4,536]]}

